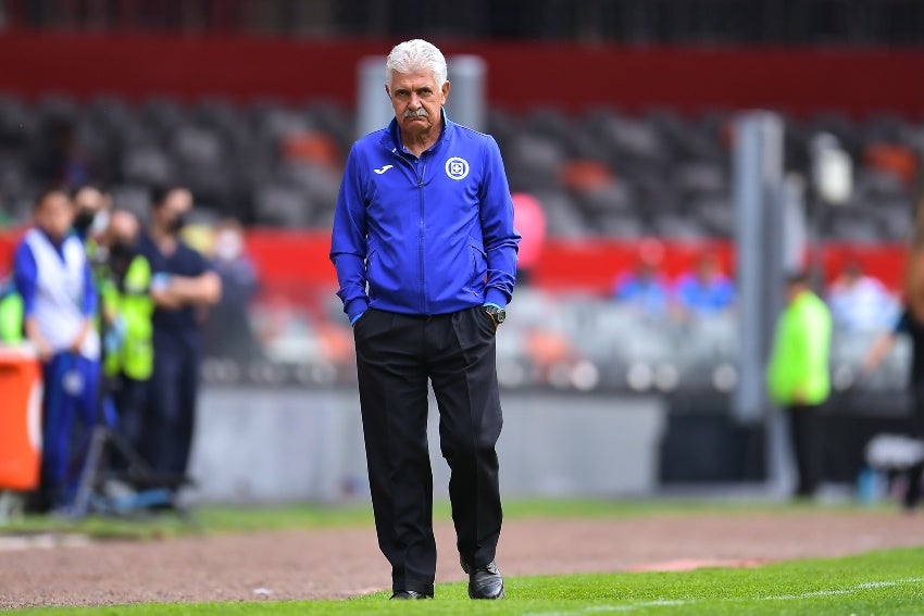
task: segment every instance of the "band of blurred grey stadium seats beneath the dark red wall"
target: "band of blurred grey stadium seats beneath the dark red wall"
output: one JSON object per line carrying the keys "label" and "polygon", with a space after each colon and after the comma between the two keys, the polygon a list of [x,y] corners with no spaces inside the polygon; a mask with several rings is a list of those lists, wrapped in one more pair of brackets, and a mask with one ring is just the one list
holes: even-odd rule
{"label": "band of blurred grey stadium seats beneath the dark red wall", "polygon": [[[731,113],[629,115],[597,109],[569,115],[544,109],[489,115],[511,188],[539,197],[549,235],[678,239],[727,238],[733,230]],[[911,211],[915,152],[924,124],[897,116],[851,121],[821,114],[787,118],[790,171],[810,174],[808,140],[835,135],[850,153],[856,189],[824,217],[824,237],[850,242],[902,240]],[[42,137],[71,139],[50,151]],[[125,205],[143,208],[153,186],[183,183],[216,215],[287,228],[329,222],[352,118],[326,104],[303,106],[212,99],[129,103],[113,97],[37,104],[0,97],[0,199],[4,218],[23,222],[47,183],[50,162],[67,155],[91,169]],[[801,155],[796,155],[801,152]]]}

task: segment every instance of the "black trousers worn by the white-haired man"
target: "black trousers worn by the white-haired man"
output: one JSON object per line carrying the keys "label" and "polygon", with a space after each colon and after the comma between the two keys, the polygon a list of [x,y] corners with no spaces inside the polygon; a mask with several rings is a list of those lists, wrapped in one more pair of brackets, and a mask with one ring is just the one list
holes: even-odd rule
{"label": "black trousers worn by the white-haired man", "polygon": [[353,329],[378,545],[392,589],[433,593],[433,474],[427,381],[450,468],[457,546],[471,566],[495,557],[501,527],[495,445],[503,423],[495,325],[480,306],[438,316],[369,310]]}

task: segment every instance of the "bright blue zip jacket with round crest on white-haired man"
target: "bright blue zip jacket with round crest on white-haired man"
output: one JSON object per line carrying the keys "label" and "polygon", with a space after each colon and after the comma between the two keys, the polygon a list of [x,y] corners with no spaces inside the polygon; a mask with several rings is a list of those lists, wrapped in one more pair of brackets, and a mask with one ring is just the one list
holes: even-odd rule
{"label": "bright blue zip jacket with round crest on white-haired man", "polygon": [[330,261],[344,312],[415,315],[510,302],[520,235],[492,137],[442,114],[420,159],[398,123],[357,141],[340,185]]}

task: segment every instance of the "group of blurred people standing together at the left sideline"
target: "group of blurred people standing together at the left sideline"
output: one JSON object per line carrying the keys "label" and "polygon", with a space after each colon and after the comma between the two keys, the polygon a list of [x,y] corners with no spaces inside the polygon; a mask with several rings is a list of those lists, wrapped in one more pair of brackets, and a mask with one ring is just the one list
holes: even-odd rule
{"label": "group of blurred people standing together at the left sideline", "polygon": [[34,510],[75,505],[99,429],[118,444],[105,473],[160,486],[170,504],[189,481],[205,347],[259,355],[248,314],[258,275],[244,228],[188,224],[193,215],[179,186],[152,194],[143,222],[89,184],[36,198],[0,296],[0,342],[32,348],[42,368]]}

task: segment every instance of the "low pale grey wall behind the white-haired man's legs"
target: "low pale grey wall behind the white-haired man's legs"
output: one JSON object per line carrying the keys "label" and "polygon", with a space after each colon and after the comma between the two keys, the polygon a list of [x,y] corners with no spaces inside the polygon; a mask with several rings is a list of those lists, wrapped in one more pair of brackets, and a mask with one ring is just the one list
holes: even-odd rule
{"label": "low pale grey wall behind the white-haired man's legs", "polygon": [[[657,398],[502,394],[504,496],[644,494],[658,480],[666,412]],[[446,499],[430,402],[434,492]],[[359,397],[352,390],[209,388],[193,443],[193,502],[365,499]]]}

